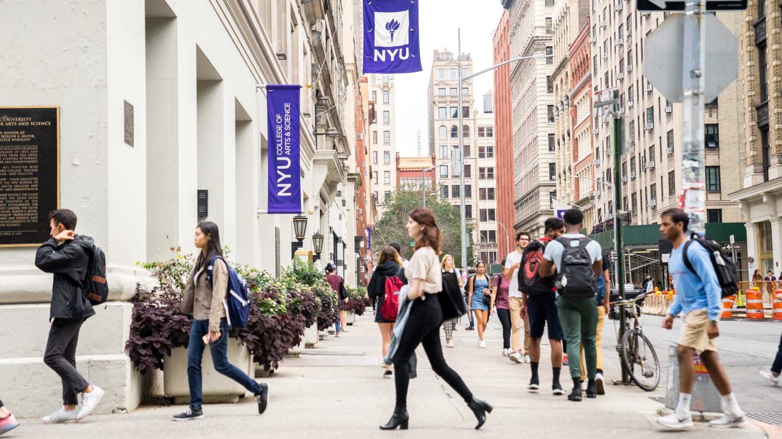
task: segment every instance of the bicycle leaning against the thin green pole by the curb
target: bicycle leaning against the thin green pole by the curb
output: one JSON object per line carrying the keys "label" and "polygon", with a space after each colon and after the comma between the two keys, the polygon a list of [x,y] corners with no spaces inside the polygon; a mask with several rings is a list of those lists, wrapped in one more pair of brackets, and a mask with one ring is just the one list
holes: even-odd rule
{"label": "bicycle leaning against the thin green pole by the curb", "polygon": [[[624,306],[626,311],[633,313],[633,322],[631,323],[630,319],[625,321],[625,334],[616,346],[616,350],[622,358],[622,364],[627,373],[630,374],[630,380],[644,391],[654,391],[660,384],[660,361],[657,358],[655,347],[644,335],[644,328],[639,319],[640,305],[638,302],[646,296],[645,293],[638,294],[636,298],[617,301],[609,305]],[[619,334],[617,334],[617,338],[619,338]]]}

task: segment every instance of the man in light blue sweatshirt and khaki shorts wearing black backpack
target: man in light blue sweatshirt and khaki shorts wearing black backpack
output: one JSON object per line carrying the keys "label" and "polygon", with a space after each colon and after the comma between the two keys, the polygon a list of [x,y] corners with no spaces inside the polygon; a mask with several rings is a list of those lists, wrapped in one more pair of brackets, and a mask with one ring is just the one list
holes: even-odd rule
{"label": "man in light blue sweatshirt and khaki shorts wearing black backpack", "polygon": [[[747,419],[730,388],[725,369],[717,358],[716,338],[719,337],[724,287],[720,286],[714,262],[705,247],[708,244],[700,239],[687,238],[689,224],[690,218],[681,209],[662,212],[660,231],[662,237],[673,244],[668,270],[676,282],[676,295],[668,315],[662,320],[662,327],[672,329],[673,319],[680,312],[683,318],[679,346],[676,348],[679,359],[679,403],[673,413],[658,418],[657,422],[675,429],[693,426],[690,400],[695,380],[694,354],[698,353],[708,369],[708,376],[722,395],[725,412],[722,418],[708,424],[716,428],[744,427]],[[725,259],[721,262],[721,266],[732,266],[732,262],[726,264]]]}

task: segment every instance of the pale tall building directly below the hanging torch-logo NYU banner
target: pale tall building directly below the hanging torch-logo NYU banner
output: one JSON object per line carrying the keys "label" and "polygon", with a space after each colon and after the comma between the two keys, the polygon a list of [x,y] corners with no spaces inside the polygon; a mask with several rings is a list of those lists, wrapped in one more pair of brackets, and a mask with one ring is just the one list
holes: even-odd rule
{"label": "pale tall building directly below the hanging torch-logo NYU banner", "polygon": [[378,218],[386,195],[396,190],[396,102],[394,77],[371,73],[369,150],[371,157],[371,192],[375,198]]}

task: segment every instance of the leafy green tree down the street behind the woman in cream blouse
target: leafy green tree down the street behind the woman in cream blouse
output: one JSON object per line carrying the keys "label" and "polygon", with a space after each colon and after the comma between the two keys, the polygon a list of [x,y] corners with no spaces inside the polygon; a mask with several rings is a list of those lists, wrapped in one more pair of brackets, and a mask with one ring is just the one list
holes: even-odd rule
{"label": "leafy green tree down the street behind the woman in cream blouse", "polygon": [[[413,248],[410,247],[412,241],[407,236],[407,217],[414,209],[421,207],[421,191],[404,190],[398,188],[391,195],[386,197],[382,204],[384,212],[381,218],[375,223],[375,229],[372,230],[372,254],[375,259],[380,249],[393,241],[399,242],[402,246],[402,256],[410,259],[413,255]],[[437,221],[437,227],[443,236],[440,242],[440,251],[443,255],[454,255],[456,266],[464,266],[461,263],[461,213],[458,205],[452,205],[450,202],[439,198],[439,195],[427,195],[426,207],[432,209]],[[467,237],[470,240],[467,248],[468,265],[474,263],[472,251],[472,227],[467,227]]]}

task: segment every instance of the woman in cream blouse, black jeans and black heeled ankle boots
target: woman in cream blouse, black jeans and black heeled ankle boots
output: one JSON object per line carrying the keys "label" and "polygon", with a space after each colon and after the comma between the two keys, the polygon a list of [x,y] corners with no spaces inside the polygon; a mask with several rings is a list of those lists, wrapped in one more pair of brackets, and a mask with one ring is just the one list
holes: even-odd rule
{"label": "woman in cream blouse, black jeans and black heeled ankle boots", "polygon": [[453,387],[461,398],[475,413],[479,429],[486,422],[486,412],[493,407],[476,399],[467,388],[461,377],[451,369],[443,358],[443,347],[440,345],[439,327],[443,324],[443,310],[435,294],[443,289],[443,276],[440,271],[437,255],[439,254],[440,231],[435,223],[434,213],[430,209],[421,208],[411,212],[407,219],[407,234],[415,241],[413,258],[405,269],[407,283],[411,285],[407,298],[414,301],[404,327],[399,347],[394,356],[396,370],[396,408],[393,416],[381,430],[393,430],[400,427],[407,430],[410,416],[407,414],[407,387],[410,384],[410,357],[423,344],[432,370]]}

